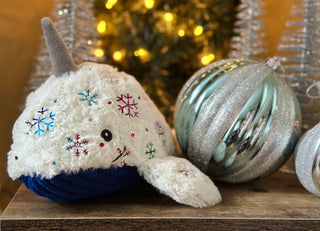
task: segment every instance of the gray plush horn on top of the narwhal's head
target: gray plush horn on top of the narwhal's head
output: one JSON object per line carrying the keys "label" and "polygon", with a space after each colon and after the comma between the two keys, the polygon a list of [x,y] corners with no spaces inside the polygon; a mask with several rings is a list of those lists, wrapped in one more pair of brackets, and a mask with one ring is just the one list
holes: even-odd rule
{"label": "gray plush horn on top of the narwhal's head", "polygon": [[41,25],[46,44],[49,49],[54,75],[58,77],[64,73],[78,70],[77,66],[72,60],[66,44],[60,37],[50,18],[43,18],[41,20]]}

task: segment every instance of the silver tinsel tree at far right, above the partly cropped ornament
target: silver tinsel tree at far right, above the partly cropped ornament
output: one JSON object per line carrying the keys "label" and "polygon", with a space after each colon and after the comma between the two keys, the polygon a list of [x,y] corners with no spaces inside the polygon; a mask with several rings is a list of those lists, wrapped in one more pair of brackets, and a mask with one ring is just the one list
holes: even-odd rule
{"label": "silver tinsel tree at far right, above the partly cropped ornament", "polygon": [[290,20],[278,46],[281,77],[292,87],[302,111],[302,132],[320,120],[318,0],[300,0],[292,5]]}

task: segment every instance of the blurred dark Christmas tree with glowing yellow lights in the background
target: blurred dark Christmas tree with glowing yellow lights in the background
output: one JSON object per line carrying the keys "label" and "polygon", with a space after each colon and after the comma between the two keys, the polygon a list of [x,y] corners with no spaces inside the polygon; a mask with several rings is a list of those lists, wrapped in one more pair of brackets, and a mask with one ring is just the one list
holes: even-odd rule
{"label": "blurred dark Christmas tree with glowing yellow lights in the background", "polygon": [[238,0],[96,0],[96,56],[137,78],[172,123],[177,94],[202,66],[227,57]]}

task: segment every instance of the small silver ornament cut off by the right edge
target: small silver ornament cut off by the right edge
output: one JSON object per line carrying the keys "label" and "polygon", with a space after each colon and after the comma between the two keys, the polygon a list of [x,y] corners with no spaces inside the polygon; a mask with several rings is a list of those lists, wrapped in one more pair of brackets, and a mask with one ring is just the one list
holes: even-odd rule
{"label": "small silver ornament cut off by the right edge", "polygon": [[320,196],[320,123],[307,131],[294,151],[295,170],[301,184]]}

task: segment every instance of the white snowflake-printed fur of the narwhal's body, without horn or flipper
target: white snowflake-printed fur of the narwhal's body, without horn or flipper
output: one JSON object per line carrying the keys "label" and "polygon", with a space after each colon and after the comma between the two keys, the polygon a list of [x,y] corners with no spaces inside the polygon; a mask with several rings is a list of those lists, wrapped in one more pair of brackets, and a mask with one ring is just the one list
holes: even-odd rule
{"label": "white snowflake-printed fur of the narwhal's body, without horn or flipper", "polygon": [[[88,90],[90,97],[96,94],[91,105],[79,95],[88,94]],[[120,109],[124,103],[119,97],[127,94],[132,103],[137,103],[137,108],[132,106],[131,116],[126,115],[126,108],[123,112]],[[44,122],[53,122],[53,127],[40,123],[43,132],[38,134],[36,121],[45,116]],[[109,142],[101,136],[104,129],[112,132]],[[75,144],[77,134],[79,144]],[[150,148],[155,151],[146,153]],[[84,63],[74,73],[51,76],[28,96],[26,108],[13,128],[8,173],[13,179],[21,175],[50,179],[62,171],[138,166],[149,158],[173,152],[169,126],[140,84],[111,66]],[[120,153],[122,156],[114,161]]]}

